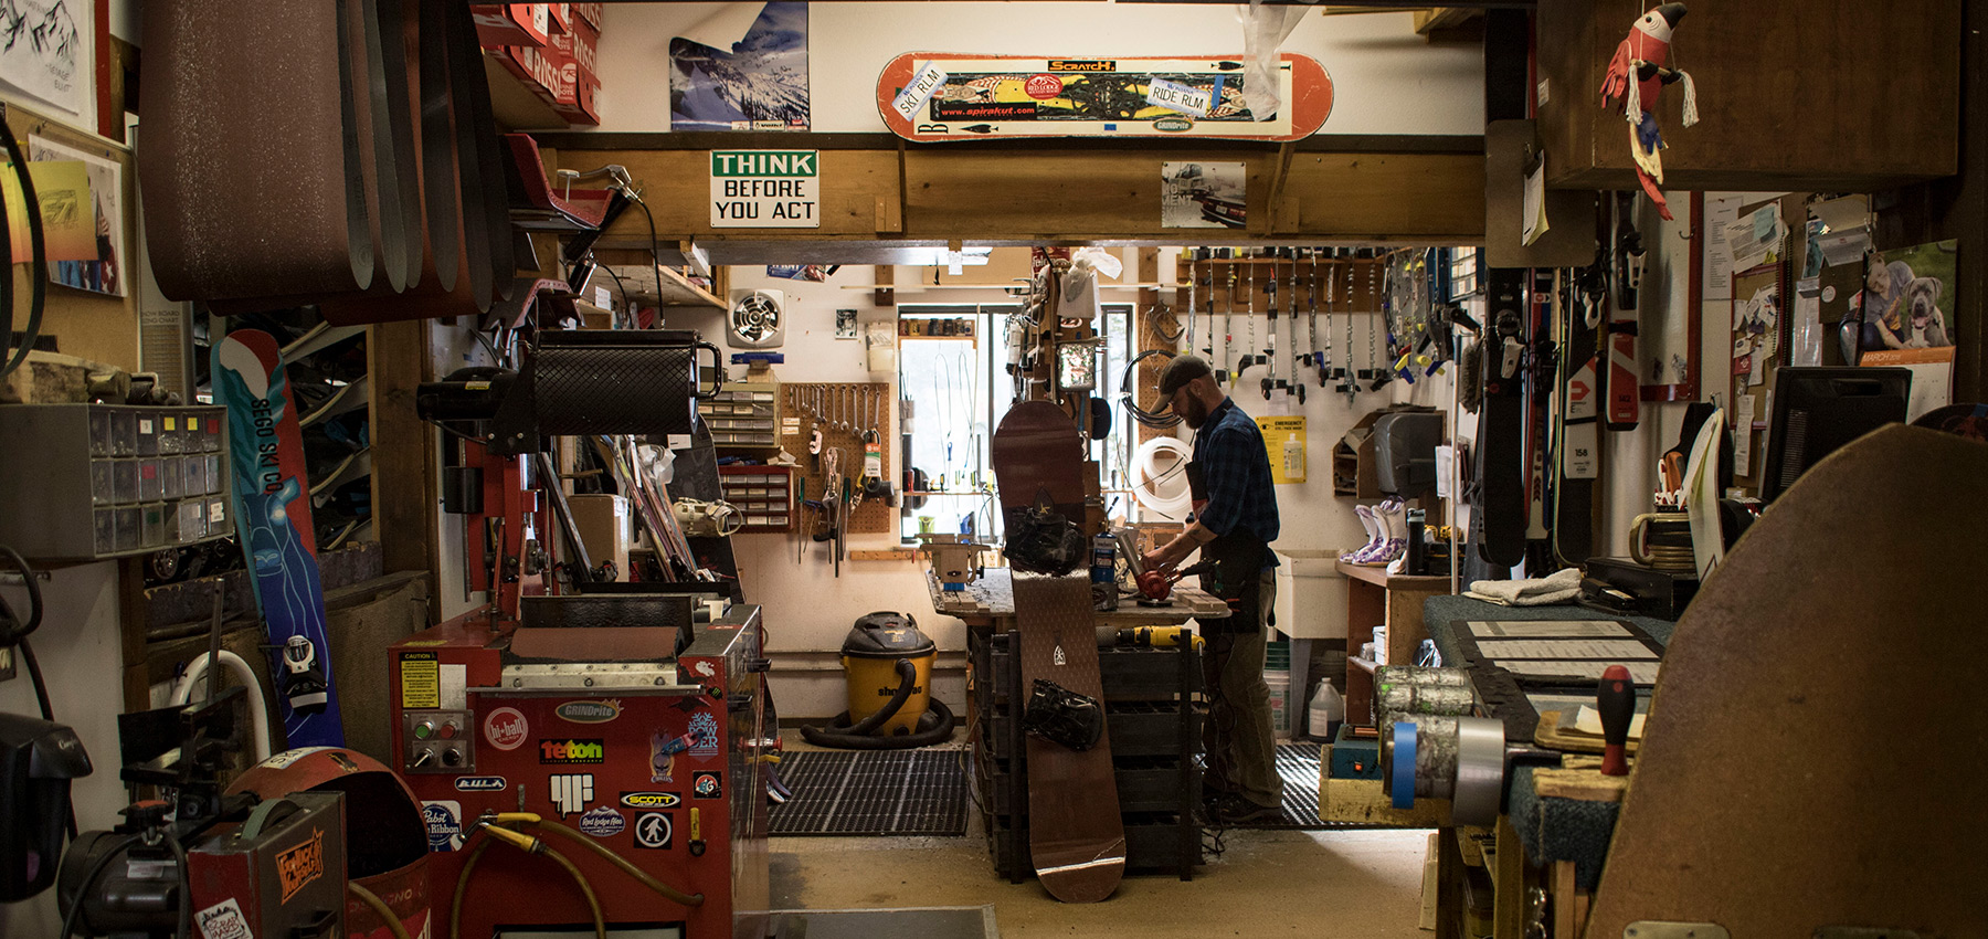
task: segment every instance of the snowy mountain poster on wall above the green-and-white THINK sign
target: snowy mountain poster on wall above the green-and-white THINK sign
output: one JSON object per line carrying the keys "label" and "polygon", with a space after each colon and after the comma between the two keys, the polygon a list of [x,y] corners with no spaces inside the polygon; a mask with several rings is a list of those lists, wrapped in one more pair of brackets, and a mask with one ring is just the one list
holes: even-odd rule
{"label": "snowy mountain poster on wall above the green-and-white THINK sign", "polygon": [[742,40],[714,42],[670,40],[672,131],[807,129],[805,2],[765,4]]}

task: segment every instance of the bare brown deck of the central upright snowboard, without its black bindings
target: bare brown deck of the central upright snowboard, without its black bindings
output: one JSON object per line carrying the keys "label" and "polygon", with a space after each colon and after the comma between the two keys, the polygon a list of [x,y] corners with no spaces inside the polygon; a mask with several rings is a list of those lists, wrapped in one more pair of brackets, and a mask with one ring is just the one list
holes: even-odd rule
{"label": "bare brown deck of the central upright snowboard, without its black bindings", "polygon": [[[1010,408],[994,432],[992,462],[1004,509],[1032,505],[1038,493],[1048,493],[1060,511],[1081,521],[1083,442],[1060,408],[1048,402]],[[1103,700],[1089,577],[1081,571],[1064,577],[1016,573],[1014,611],[1022,686],[1048,678]],[[1125,875],[1125,826],[1111,776],[1109,730],[1083,752],[1030,736],[1026,754],[1028,849],[1036,877],[1064,903],[1109,897]]]}

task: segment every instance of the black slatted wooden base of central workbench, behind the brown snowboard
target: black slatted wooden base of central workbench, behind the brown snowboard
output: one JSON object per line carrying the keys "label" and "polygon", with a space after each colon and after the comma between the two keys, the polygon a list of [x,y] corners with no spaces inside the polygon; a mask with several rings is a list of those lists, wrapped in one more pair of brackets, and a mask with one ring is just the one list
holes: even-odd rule
{"label": "black slatted wooden base of central workbench, behind the brown snowboard", "polygon": [[[1026,698],[1012,633],[966,631],[972,682],[968,688],[974,792],[988,832],[996,873],[1020,883],[1034,865],[1028,855],[1028,748],[1018,708]],[[1201,863],[1201,655],[1193,649],[1097,651],[1105,688],[1119,812],[1125,822],[1125,865],[1171,869],[1191,879]]]}

